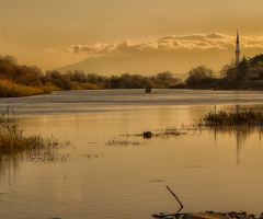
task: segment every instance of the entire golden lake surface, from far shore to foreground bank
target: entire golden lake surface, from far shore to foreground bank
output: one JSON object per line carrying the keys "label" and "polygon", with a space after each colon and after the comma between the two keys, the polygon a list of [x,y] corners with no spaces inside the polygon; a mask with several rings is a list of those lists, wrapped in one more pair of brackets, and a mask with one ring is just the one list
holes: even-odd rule
{"label": "entire golden lake surface, from far shore to foreground bank", "polygon": [[[258,130],[180,128],[214,111],[263,110],[263,92],[61,91],[0,99],[26,135],[70,140],[54,162],[0,162],[0,218],[149,219],[151,214],[263,211],[263,146]],[[113,145],[108,145],[113,142]],[[122,143],[125,142],[125,143]]]}

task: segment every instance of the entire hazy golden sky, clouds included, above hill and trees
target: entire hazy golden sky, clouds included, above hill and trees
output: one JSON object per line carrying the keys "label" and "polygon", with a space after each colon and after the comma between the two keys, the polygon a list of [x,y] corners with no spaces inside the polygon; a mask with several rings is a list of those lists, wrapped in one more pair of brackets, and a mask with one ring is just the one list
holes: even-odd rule
{"label": "entire hazy golden sky, clouds included, above hill and trees", "polygon": [[136,64],[155,73],[155,64],[148,67],[158,59],[151,56],[160,58],[158,71],[183,73],[197,65],[220,70],[235,58],[237,28],[241,56],[263,50],[262,0],[0,0],[0,55],[42,70],[101,56],[137,57],[133,66],[125,62],[125,72]]}

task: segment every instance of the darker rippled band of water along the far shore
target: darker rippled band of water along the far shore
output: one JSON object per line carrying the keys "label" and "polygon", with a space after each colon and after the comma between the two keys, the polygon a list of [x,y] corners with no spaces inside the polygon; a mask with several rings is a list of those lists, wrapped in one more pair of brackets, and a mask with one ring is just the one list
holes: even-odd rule
{"label": "darker rippled band of water along the far shore", "polygon": [[54,92],[50,95],[0,99],[2,110],[9,105],[19,115],[129,111],[128,106],[136,106],[133,108],[135,111],[168,105],[182,108],[236,103],[263,104],[262,92],[153,90],[153,93],[146,94],[144,90],[103,90],[64,91]]}

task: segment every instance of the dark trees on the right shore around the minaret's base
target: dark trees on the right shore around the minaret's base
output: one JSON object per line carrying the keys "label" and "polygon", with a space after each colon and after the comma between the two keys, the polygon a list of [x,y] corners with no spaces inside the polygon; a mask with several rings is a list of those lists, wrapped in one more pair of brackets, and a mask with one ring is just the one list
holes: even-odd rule
{"label": "dark trees on the right shore around the minaret's base", "polygon": [[235,60],[222,66],[221,77],[215,78],[213,70],[206,67],[194,68],[186,79],[187,88],[196,89],[251,89],[263,90],[263,54],[242,60],[236,65]]}

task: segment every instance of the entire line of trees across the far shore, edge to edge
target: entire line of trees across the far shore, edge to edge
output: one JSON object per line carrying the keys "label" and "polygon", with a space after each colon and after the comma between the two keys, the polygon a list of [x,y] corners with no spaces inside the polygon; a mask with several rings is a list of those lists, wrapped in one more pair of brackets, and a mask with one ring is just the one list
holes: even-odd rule
{"label": "entire line of trees across the far shore, edge to edge", "polygon": [[[46,93],[53,90],[146,89],[149,87],[153,89],[263,89],[263,54],[252,58],[243,57],[238,67],[232,60],[225,65],[220,72],[224,77],[216,78],[211,69],[198,66],[187,72],[188,77],[184,81],[169,71],[159,72],[156,76],[123,73],[110,77],[87,73],[82,70],[69,70],[66,73],[58,70],[43,72],[36,66],[18,65],[12,56],[0,56],[1,81],[23,85],[22,90],[25,87],[43,88],[43,91],[37,90],[36,93]],[[0,84],[0,92],[3,93],[3,91]],[[14,90],[12,92],[14,93]],[[19,92],[20,90],[16,91]]]}

